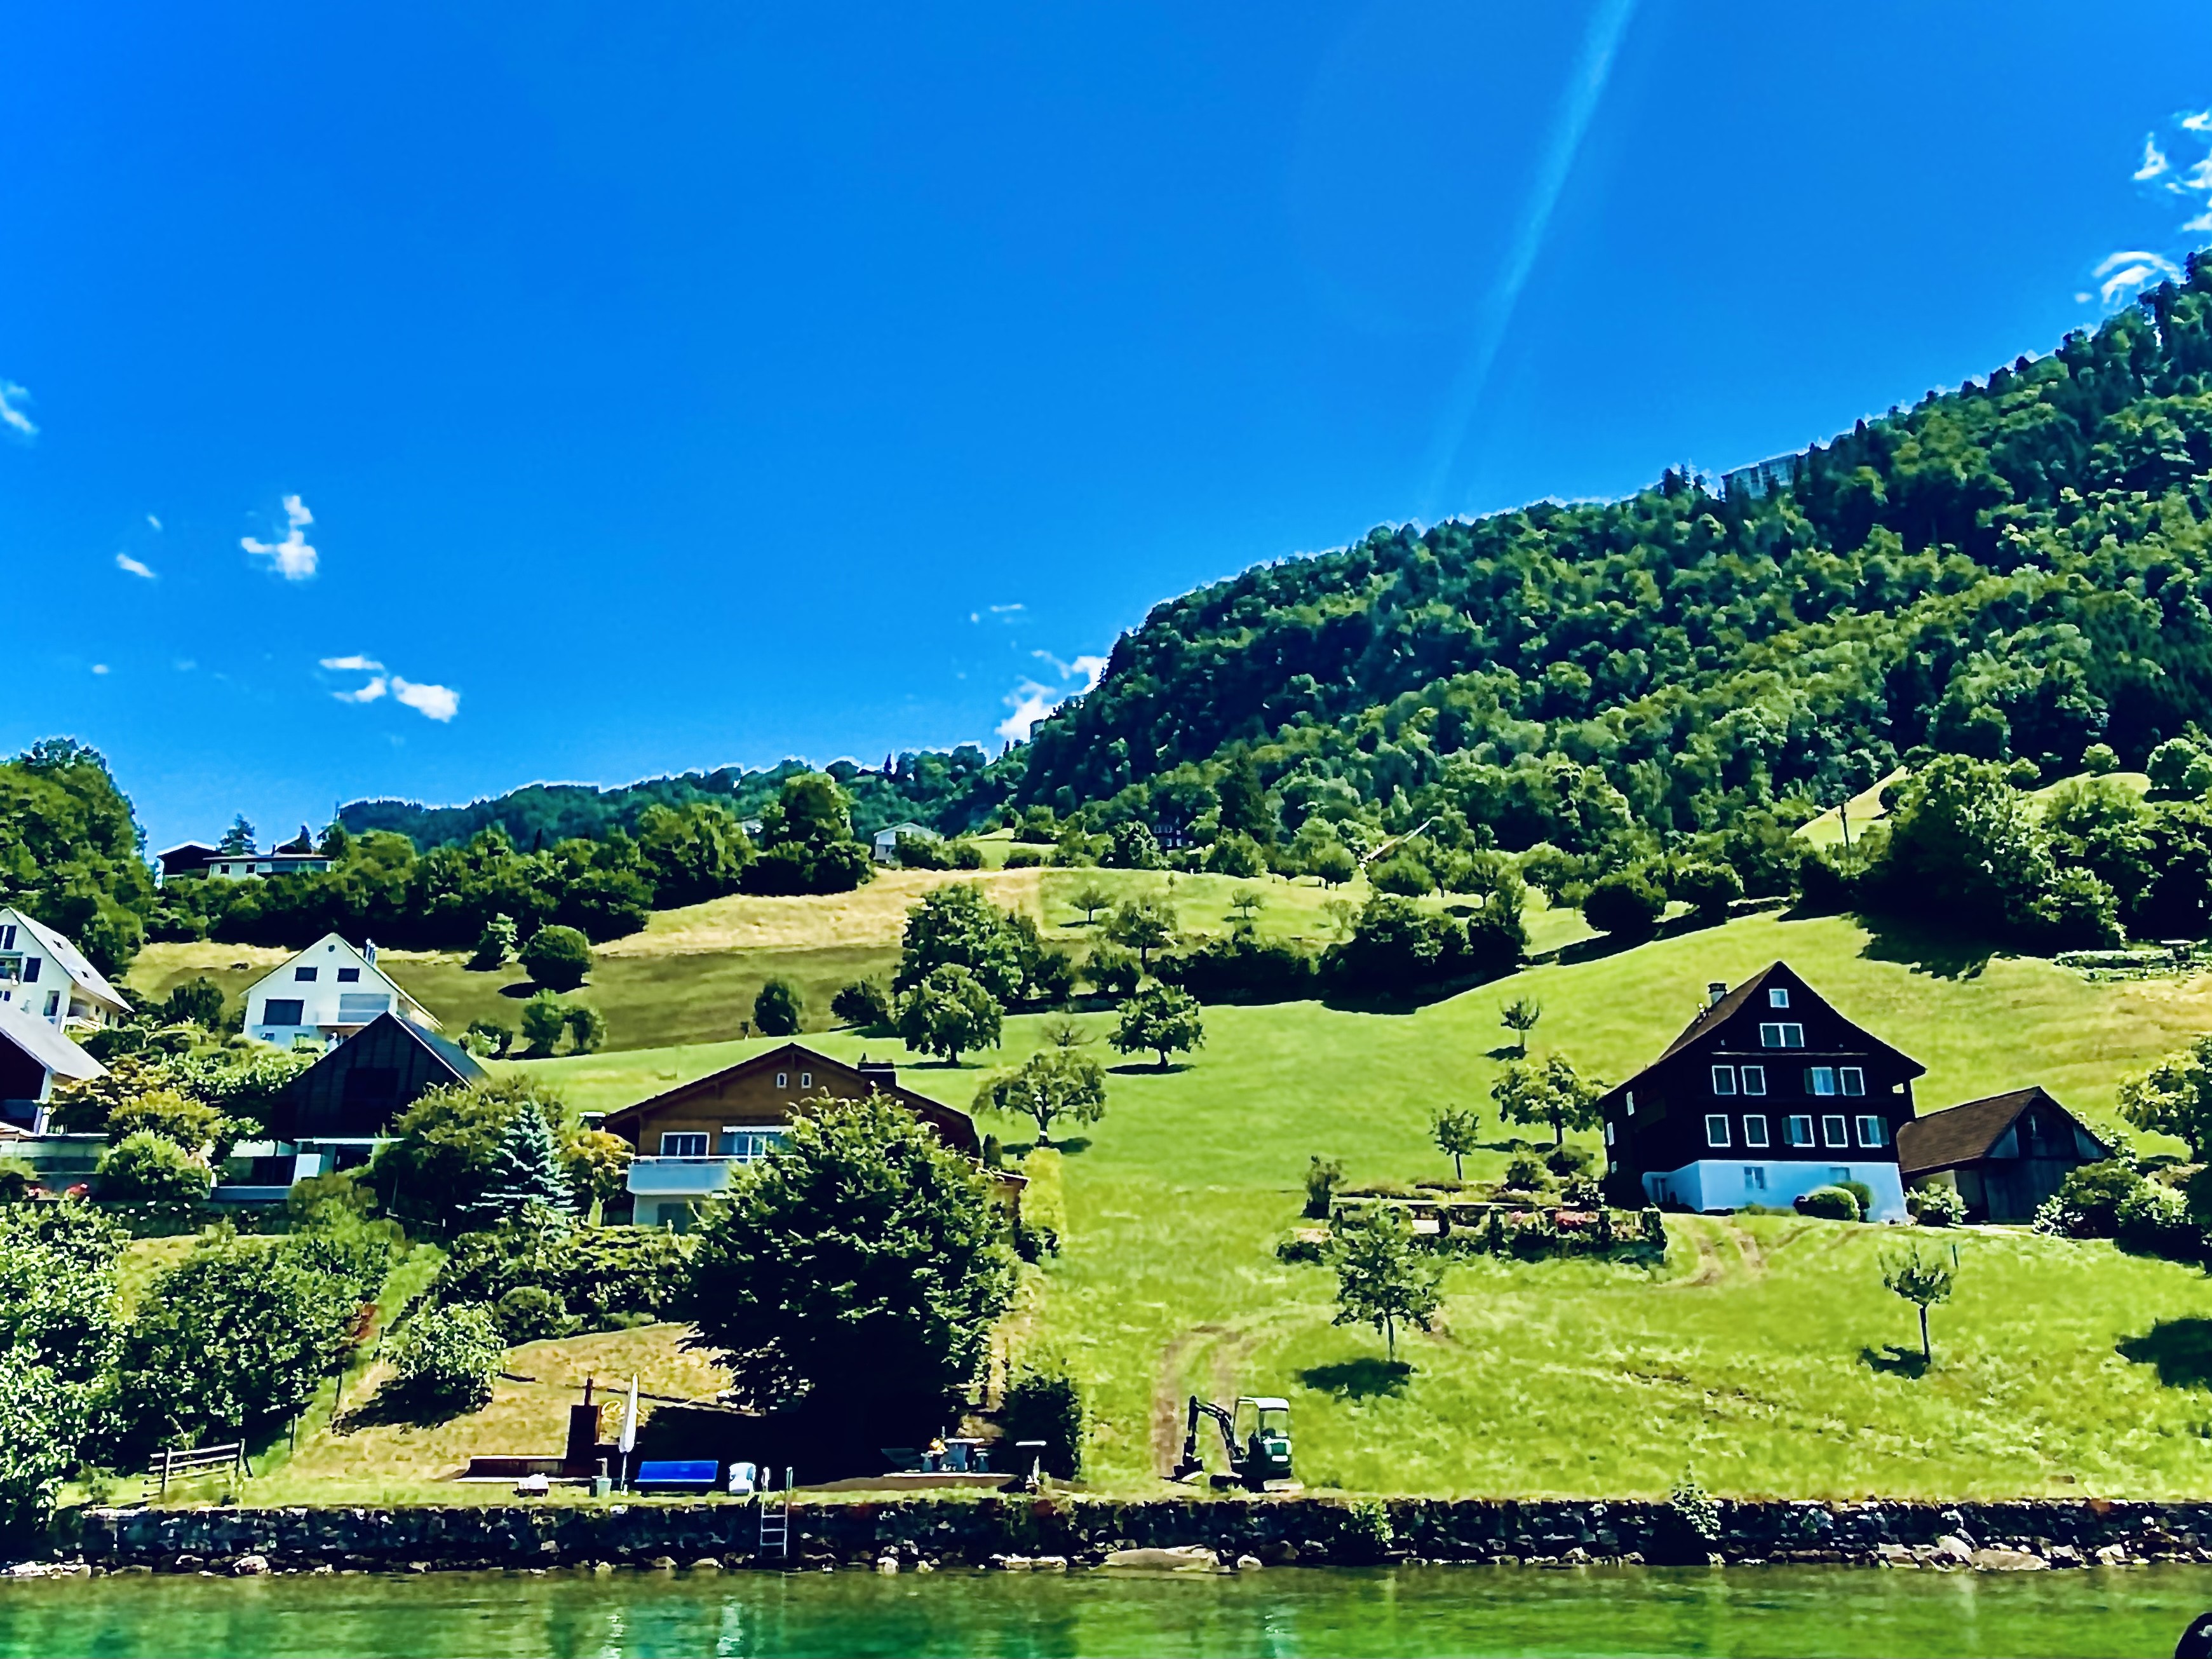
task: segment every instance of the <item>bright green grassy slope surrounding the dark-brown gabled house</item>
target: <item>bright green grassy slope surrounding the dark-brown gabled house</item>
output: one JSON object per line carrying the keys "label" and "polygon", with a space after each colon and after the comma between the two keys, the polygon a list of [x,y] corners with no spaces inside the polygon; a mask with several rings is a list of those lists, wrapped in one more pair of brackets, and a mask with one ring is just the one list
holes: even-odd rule
{"label": "bright green grassy slope surrounding the dark-brown gabled house", "polygon": [[[1290,1394],[1307,1480],[1367,1491],[1663,1493],[1686,1460],[1730,1493],[2212,1491],[2212,1402],[2119,1352],[2148,1338],[2185,1365],[2199,1327],[2152,1332],[2212,1316],[2212,1292],[2197,1272],[2110,1245],[1969,1234],[1958,1301],[1936,1312],[1938,1367],[1920,1380],[1882,1369],[1885,1345],[1909,1343],[1913,1325],[1878,1281],[1876,1254],[1893,1237],[1865,1228],[1679,1221],[1659,1276],[1453,1267],[1444,1325],[1405,1345],[1402,1385],[1376,1363],[1374,1334],[1329,1327],[1325,1272],[1274,1259],[1310,1152],[1343,1157],[1354,1179],[1449,1172],[1427,1124],[1444,1102],[1486,1102],[1506,998],[1526,989],[1544,1002],[1540,1051],[1619,1077],[1679,1029],[1708,978],[1739,980],[1774,958],[1929,1064],[1922,1108],[2044,1082],[2110,1121],[2124,1071],[2212,1026],[2212,980],[2093,987],[2008,958],[1931,971],[1909,942],[1849,920],[1774,916],[1528,969],[1409,1015],[1210,1009],[1194,1062],[1117,1073],[1110,1115],[1064,1164],[1066,1254],[1035,1340],[1088,1383],[1095,1478],[1148,1489],[1179,1436],[1181,1394],[1197,1387]],[[1018,1057],[1037,1026],[1009,1022],[998,1060]],[[580,1104],[604,1106],[745,1048],[546,1071]],[[953,1104],[978,1077],[978,1066],[907,1073]],[[1478,1155],[1469,1175],[1502,1159]]]}

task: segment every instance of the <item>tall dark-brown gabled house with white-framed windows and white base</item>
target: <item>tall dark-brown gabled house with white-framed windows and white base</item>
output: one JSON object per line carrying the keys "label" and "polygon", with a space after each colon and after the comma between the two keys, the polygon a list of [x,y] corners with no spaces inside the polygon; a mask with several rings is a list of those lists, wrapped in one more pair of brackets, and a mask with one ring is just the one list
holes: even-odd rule
{"label": "tall dark-brown gabled house with white-framed windows and white base", "polygon": [[1781,1208],[1863,1181],[1869,1221],[1905,1221],[1898,1130],[1927,1068],[1781,962],[1705,995],[1666,1053],[1599,1099],[1608,1179],[1686,1210]]}

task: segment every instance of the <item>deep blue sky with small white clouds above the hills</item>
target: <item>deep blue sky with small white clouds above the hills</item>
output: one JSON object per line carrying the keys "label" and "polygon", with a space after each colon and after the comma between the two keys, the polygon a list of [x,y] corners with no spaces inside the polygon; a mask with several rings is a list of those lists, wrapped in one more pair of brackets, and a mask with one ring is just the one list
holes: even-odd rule
{"label": "deep blue sky with small white clouds above the hills", "polygon": [[1170,593],[2212,243],[2203,4],[4,18],[0,745],[157,845],[995,748]]}

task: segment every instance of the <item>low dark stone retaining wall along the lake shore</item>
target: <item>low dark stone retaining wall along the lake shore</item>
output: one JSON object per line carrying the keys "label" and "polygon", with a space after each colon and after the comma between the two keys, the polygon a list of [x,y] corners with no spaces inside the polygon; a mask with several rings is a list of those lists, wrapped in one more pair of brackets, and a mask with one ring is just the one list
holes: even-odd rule
{"label": "low dark stone retaining wall along the lake shore", "polygon": [[[1887,1562],[2081,1566],[2212,1562],[2212,1504],[1734,1504],[1717,1528],[1670,1504],[896,1498],[801,1502],[794,1566],[989,1566],[1194,1544],[1225,1562]],[[420,1509],[91,1509],[55,1553],[95,1568],[427,1571],[484,1566],[783,1566],[759,1557],[748,1502]]]}

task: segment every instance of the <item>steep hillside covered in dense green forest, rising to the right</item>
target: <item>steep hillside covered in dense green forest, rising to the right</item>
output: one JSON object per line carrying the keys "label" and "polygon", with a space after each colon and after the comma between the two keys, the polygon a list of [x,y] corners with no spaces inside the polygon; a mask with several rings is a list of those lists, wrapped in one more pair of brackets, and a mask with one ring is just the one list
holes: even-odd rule
{"label": "steep hillside covered in dense green forest, rising to the right", "polygon": [[1018,801],[1192,821],[1250,757],[1285,830],[1358,801],[1588,847],[1621,814],[1666,836],[1834,803],[1924,750],[2139,765],[2212,712],[2208,374],[2197,257],[1783,489],[1670,473],[1245,571],[1115,646]]}

